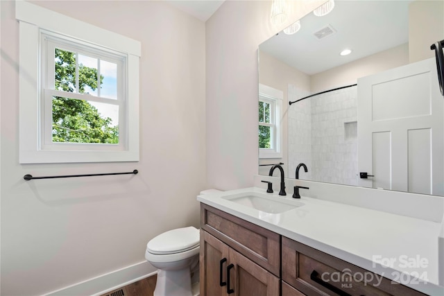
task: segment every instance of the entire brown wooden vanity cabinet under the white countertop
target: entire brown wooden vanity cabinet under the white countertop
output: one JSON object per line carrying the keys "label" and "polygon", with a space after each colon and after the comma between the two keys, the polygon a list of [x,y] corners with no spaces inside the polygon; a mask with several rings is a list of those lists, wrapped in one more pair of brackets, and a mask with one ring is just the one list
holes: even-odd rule
{"label": "entire brown wooden vanity cabinet under the white countertop", "polygon": [[200,215],[202,296],[425,295],[207,204]]}

